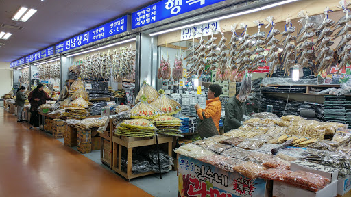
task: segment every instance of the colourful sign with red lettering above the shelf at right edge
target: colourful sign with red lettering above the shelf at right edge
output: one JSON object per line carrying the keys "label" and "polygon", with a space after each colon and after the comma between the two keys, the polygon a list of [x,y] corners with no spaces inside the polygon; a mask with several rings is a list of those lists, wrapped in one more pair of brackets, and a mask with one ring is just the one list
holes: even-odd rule
{"label": "colourful sign with red lettering above the shelf at right edge", "polygon": [[318,85],[339,85],[351,81],[351,65],[343,66],[339,69],[338,66],[333,66],[328,70],[318,73]]}

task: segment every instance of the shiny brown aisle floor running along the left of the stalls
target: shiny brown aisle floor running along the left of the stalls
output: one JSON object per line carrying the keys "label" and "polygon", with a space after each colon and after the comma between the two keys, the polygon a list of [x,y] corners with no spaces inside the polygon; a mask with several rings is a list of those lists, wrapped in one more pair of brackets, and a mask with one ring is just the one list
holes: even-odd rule
{"label": "shiny brown aisle floor running along the left of the stalls", "polygon": [[0,109],[0,196],[151,196]]}

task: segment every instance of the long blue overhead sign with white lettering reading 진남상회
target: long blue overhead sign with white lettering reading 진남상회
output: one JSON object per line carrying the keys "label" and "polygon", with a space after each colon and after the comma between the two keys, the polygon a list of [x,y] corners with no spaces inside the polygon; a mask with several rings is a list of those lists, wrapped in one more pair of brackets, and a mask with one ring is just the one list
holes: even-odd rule
{"label": "long blue overhead sign with white lettering reading \uc9c4\ub0a8\uc0c1\ud68c", "polygon": [[56,44],[56,53],[61,53],[74,49],[76,47],[83,46],[84,44],[89,44],[90,42],[95,42],[110,36],[121,34],[127,31],[128,16],[123,16],[114,21],[110,21],[104,25],[101,25],[95,29],[86,31],[83,34],[64,40],[60,44]]}

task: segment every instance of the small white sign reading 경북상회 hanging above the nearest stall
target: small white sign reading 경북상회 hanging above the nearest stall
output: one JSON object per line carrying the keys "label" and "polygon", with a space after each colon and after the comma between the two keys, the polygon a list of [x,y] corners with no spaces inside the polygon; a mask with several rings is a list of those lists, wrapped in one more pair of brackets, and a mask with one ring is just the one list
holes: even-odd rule
{"label": "small white sign reading \uacbd\ubd81\uc0c1\ud68c hanging above the nearest stall", "polygon": [[[219,21],[214,21],[211,23],[204,23],[202,25],[197,25],[193,27],[188,27],[185,29],[182,29],[180,31],[180,40],[189,40],[193,38],[199,38],[201,37],[198,32],[202,32],[202,36],[210,36],[211,35],[211,25],[215,26],[215,29],[219,29]],[[193,36],[193,32],[195,32],[195,36]],[[215,34],[218,34],[219,31],[216,31]]]}

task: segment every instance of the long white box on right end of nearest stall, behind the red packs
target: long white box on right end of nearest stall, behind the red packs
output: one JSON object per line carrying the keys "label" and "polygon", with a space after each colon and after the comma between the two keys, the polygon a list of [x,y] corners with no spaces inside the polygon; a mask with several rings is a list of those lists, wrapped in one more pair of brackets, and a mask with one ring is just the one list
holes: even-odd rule
{"label": "long white box on right end of nearest stall, behind the red packs", "polygon": [[[315,163],[311,163],[308,161],[291,161],[290,163],[290,170],[291,171],[298,171],[298,170],[302,170],[302,171],[306,171],[306,172],[311,172],[314,174],[319,174],[321,176],[324,176],[328,179],[330,179],[331,182],[334,182],[337,180],[337,174],[339,173],[339,170],[337,168],[331,168],[331,167],[326,167],[326,166],[322,166],[319,164],[315,164]],[[311,168],[308,166],[317,166],[317,169],[325,169],[328,168],[329,172],[325,172],[322,170],[316,170],[316,168]]]}

